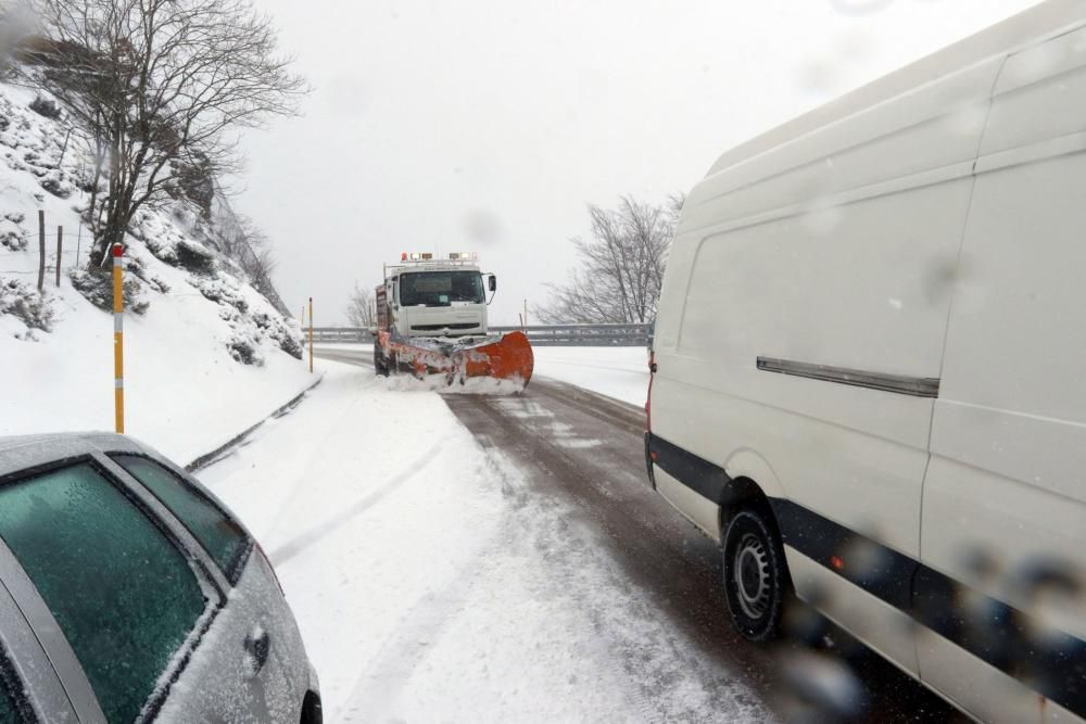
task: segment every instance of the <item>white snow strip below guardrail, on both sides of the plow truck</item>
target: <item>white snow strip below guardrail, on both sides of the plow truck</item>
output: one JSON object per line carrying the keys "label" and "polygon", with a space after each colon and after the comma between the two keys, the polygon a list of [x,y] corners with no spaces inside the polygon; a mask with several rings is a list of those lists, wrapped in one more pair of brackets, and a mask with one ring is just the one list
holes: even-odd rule
{"label": "white snow strip below guardrail, on both sides of the plow truck", "polygon": [[[368,344],[317,344],[316,350],[368,355]],[[576,384],[642,407],[648,394],[648,353],[644,347],[532,347],[533,374]]]}

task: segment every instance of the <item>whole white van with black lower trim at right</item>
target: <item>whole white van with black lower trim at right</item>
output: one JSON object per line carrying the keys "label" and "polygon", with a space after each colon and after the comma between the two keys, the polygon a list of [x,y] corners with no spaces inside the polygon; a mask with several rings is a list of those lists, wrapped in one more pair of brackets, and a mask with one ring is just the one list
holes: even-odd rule
{"label": "whole white van with black lower trim at right", "polygon": [[653,484],[985,721],[1086,720],[1086,1],[725,153],[671,250]]}

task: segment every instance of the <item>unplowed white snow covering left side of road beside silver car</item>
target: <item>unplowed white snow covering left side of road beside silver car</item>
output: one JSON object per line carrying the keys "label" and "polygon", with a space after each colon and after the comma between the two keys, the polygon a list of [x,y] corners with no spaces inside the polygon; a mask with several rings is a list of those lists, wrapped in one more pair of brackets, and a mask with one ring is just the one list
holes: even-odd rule
{"label": "unplowed white snow covering left side of road beside silver car", "polygon": [[[569,357],[567,357],[568,359]],[[767,721],[576,511],[442,398],[318,361],[323,384],[201,479],[268,551],[330,722]]]}

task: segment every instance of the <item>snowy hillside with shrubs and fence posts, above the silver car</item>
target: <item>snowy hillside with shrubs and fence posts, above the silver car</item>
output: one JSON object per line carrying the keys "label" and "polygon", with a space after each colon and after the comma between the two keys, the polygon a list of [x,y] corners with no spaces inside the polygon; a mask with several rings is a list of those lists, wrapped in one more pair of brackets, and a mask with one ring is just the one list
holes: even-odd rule
{"label": "snowy hillside with shrubs and fence posts, above the silver car", "polygon": [[[90,160],[78,135],[67,137],[63,109],[35,101],[34,91],[0,84],[0,434],[110,430],[112,296],[108,275],[84,270],[90,233],[79,230]],[[39,209],[47,229],[40,296]],[[296,321],[218,253],[212,221],[179,200],[142,213],[134,227],[125,254],[127,432],[186,462],[313,378]]]}

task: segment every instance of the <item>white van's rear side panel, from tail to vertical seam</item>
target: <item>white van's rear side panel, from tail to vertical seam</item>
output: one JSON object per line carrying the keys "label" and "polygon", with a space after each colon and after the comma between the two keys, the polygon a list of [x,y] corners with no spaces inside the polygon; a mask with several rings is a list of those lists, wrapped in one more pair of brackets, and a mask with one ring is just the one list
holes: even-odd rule
{"label": "white van's rear side panel, from tail to vertical seam", "polygon": [[[787,524],[855,532],[898,555],[904,569],[882,570],[873,592],[782,528],[800,597],[912,674],[901,609],[920,556],[933,399],[857,386],[847,370],[937,389],[1002,61],[925,78],[711,174],[683,209],[656,323],[653,433],[732,477],[757,459],[772,474],[753,479],[774,511],[790,506]],[[759,359],[838,372],[810,379]],[[669,501],[712,534],[705,503],[716,501],[665,480]],[[871,564],[836,555],[850,570]]]}

